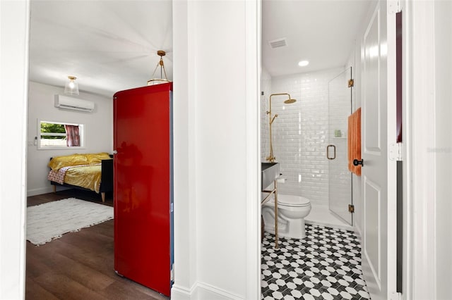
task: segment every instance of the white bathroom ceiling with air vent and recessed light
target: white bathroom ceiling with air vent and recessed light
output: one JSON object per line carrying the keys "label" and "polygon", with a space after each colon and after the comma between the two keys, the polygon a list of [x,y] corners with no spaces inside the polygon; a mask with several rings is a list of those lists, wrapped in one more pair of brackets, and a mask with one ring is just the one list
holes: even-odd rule
{"label": "white bathroom ceiling with air vent and recessed light", "polygon": [[[262,65],[272,76],[345,66],[370,0],[263,0]],[[287,46],[268,42],[285,38]],[[298,62],[309,61],[306,67]]]}

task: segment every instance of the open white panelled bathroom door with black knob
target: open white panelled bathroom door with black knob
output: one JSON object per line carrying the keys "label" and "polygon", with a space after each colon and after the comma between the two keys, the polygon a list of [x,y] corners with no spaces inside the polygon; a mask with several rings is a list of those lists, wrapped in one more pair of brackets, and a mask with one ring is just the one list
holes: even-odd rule
{"label": "open white panelled bathroom door with black knob", "polygon": [[387,1],[379,1],[362,40],[362,267],[373,300],[396,292],[396,170],[388,161],[388,131],[396,132],[392,18]]}

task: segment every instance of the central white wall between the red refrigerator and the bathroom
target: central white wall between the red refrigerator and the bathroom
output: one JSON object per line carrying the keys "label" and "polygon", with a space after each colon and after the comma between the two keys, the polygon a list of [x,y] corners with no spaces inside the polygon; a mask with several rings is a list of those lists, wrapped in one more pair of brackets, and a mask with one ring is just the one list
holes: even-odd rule
{"label": "central white wall between the red refrigerator and the bathroom", "polygon": [[172,299],[260,295],[258,5],[173,4]]}

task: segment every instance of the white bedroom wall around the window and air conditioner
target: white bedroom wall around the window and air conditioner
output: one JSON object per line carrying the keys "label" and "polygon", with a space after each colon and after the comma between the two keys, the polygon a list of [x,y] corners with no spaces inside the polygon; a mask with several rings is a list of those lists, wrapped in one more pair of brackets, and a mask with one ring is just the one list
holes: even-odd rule
{"label": "white bedroom wall around the window and air conditioner", "polygon": [[[74,96],[95,102],[92,113],[62,110],[54,107],[54,95],[64,94],[64,87],[29,83],[28,91],[28,196],[52,192],[47,180],[49,158],[74,153],[97,153],[113,150],[113,100],[104,96],[80,92]],[[37,120],[79,123],[84,125],[83,149],[37,149],[33,140],[37,136]]]}

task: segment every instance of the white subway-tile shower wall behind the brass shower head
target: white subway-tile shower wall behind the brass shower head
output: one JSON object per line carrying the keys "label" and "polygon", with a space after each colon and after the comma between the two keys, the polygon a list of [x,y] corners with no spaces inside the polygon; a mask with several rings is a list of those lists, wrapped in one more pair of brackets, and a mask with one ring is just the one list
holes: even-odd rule
{"label": "white subway-tile shower wall behind the brass shower head", "polygon": [[[272,124],[273,152],[287,179],[279,185],[283,194],[328,204],[328,82],[343,70],[271,78],[271,93],[289,93],[297,99],[295,104],[284,104],[285,96],[272,97],[272,113],[278,114]],[[268,119],[261,127],[264,132]],[[262,144],[268,144],[268,139],[268,133],[262,135]]]}

